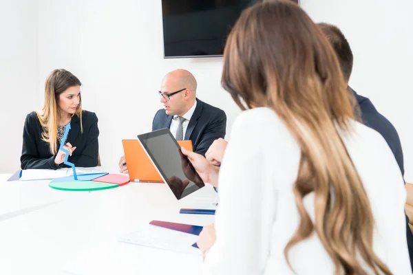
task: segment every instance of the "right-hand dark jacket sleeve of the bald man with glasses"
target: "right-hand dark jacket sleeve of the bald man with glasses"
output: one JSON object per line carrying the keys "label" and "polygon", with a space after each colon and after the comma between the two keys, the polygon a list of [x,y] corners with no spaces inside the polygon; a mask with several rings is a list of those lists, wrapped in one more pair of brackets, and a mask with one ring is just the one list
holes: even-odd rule
{"label": "right-hand dark jacket sleeve of the bald man with glasses", "polygon": [[218,115],[208,124],[207,128],[202,133],[200,139],[200,144],[195,148],[195,153],[200,155],[205,155],[207,153],[209,146],[214,140],[218,138],[225,137],[226,132],[226,114],[224,111],[220,110]]}

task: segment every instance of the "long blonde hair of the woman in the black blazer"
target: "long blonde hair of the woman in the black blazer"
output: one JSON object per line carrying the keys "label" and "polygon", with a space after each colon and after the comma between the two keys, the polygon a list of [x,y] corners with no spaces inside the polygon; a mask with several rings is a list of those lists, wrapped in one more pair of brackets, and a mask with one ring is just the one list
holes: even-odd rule
{"label": "long blonde hair of the woman in the black blazer", "polygon": [[[72,73],[65,69],[55,69],[47,76],[45,82],[45,103],[41,111],[37,111],[37,118],[43,128],[41,134],[42,140],[50,145],[50,153],[55,155],[57,148],[57,126],[61,115],[59,108],[59,96],[66,91],[67,88],[73,86],[81,86],[82,83]],[[81,121],[81,131],[83,132],[82,124],[82,98],[79,98],[79,104],[76,113]],[[64,142],[64,141],[62,141]]]}

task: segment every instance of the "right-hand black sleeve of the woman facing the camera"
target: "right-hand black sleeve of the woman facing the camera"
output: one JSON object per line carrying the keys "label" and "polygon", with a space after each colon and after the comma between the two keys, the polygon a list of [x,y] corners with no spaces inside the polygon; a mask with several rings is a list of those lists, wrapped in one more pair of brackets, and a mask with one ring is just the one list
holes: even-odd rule
{"label": "right-hand black sleeve of the woman facing the camera", "polygon": [[[98,117],[96,113],[92,113],[92,118],[90,118],[92,124],[89,128],[89,132],[86,134],[86,145],[83,148],[81,155],[74,155],[67,159],[78,167],[96,167],[98,166],[98,153],[99,153],[99,129],[98,129]],[[83,129],[84,131],[85,129]]]}

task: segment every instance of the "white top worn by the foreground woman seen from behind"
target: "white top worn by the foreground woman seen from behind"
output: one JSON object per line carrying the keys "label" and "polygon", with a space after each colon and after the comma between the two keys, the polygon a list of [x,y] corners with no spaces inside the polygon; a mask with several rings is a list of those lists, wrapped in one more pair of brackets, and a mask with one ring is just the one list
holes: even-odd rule
{"label": "white top worn by the foreground woman seen from behind", "polygon": [[[411,274],[399,166],[383,137],[359,122],[341,135],[357,168],[374,216],[373,248],[392,274]],[[301,150],[268,108],[242,112],[233,124],[219,175],[216,241],[203,274],[294,274],[284,248],[300,217],[293,194]],[[314,221],[314,193],[304,198]],[[335,266],[314,232],[289,252],[295,274],[335,274]],[[370,274],[370,273],[369,273]]]}

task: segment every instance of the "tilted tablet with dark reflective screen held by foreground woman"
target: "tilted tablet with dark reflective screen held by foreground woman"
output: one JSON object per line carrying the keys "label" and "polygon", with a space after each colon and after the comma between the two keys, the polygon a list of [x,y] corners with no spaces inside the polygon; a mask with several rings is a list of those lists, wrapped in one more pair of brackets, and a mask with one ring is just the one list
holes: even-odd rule
{"label": "tilted tablet with dark reflective screen held by foreground woman", "polygon": [[205,186],[169,129],[138,135],[138,140],[176,199]]}

